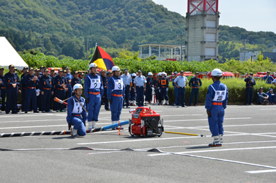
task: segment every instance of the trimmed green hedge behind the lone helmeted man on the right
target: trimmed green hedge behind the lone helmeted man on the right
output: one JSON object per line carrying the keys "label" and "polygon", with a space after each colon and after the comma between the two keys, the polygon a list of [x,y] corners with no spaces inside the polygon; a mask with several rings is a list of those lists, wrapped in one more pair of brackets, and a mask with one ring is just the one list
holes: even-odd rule
{"label": "trimmed green hedge behind the lone helmeted man on the right", "polygon": [[[201,79],[202,86],[199,88],[199,97],[198,103],[205,104],[206,94],[208,87],[210,84],[213,84],[212,79]],[[246,82],[244,79],[224,79],[221,80],[222,83],[226,84],[228,88],[228,103],[230,104],[245,104],[246,103]],[[273,84],[266,84],[265,81],[261,81],[259,79],[256,80],[256,85],[254,86],[253,93],[253,102],[255,102],[255,97],[259,88],[264,88],[264,93],[268,92],[269,88],[273,88],[275,90],[275,86]],[[171,103],[175,102],[175,94],[173,92],[172,82],[169,84],[168,97]],[[188,104],[190,99],[190,87],[186,88],[185,95],[185,104]]]}

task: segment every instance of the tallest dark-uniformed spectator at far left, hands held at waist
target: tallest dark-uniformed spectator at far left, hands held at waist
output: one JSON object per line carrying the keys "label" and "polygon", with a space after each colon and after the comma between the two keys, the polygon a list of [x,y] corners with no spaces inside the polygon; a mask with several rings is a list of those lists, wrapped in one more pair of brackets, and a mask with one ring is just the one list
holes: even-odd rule
{"label": "tallest dark-uniformed spectator at far left, hands held at waist", "polygon": [[14,66],[9,66],[9,72],[4,76],[4,84],[6,85],[6,114],[12,110],[13,114],[17,114],[17,95],[18,86],[20,85],[19,76],[14,74]]}

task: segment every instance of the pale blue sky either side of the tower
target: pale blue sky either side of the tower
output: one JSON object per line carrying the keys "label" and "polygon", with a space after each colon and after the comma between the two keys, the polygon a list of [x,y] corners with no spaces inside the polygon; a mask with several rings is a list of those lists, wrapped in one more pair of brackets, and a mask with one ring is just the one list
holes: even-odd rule
{"label": "pale blue sky either side of the tower", "polygon": [[[188,0],[152,0],[186,17]],[[219,25],[276,33],[276,0],[220,0]]]}

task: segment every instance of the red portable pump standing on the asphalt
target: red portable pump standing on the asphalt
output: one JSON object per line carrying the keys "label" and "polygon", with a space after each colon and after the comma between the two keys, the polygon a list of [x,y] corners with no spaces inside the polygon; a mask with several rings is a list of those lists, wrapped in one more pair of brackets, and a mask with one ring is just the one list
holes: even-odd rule
{"label": "red portable pump standing on the asphalt", "polygon": [[155,111],[146,107],[138,107],[130,110],[132,119],[129,119],[128,131],[131,136],[141,135],[144,137],[158,136],[164,132],[163,119]]}

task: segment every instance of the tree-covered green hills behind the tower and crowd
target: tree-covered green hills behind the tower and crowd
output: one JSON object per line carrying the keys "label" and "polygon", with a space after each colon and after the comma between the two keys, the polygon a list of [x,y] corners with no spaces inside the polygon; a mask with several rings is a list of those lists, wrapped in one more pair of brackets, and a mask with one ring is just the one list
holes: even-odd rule
{"label": "tree-covered green hills behind the tower and crowd", "polygon": [[[151,0],[1,0],[0,36],[17,51],[44,46],[46,55],[86,57],[98,43],[103,48],[137,50],[148,41],[179,43],[185,18]],[[276,46],[273,32],[248,32],[220,26],[221,59],[237,56],[241,39],[262,51]],[[185,38],[184,38],[185,39]],[[225,42],[226,41],[226,42]],[[231,42],[229,42],[231,41]]]}

